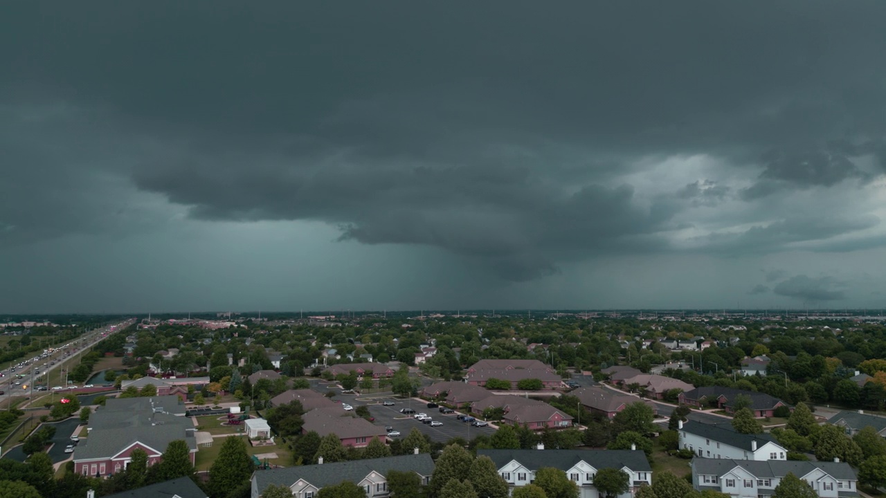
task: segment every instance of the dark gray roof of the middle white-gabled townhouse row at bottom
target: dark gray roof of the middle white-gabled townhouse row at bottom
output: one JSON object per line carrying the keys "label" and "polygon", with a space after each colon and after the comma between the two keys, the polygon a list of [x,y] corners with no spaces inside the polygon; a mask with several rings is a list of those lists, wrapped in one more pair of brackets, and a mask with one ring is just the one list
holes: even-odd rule
{"label": "dark gray roof of the middle white-gabled townhouse row at bottom", "polygon": [[596,470],[621,469],[651,472],[649,460],[641,450],[627,449],[478,449],[477,455],[486,455],[501,469],[513,460],[530,471],[542,467],[554,467],[561,471],[570,470],[576,463],[584,461]]}

